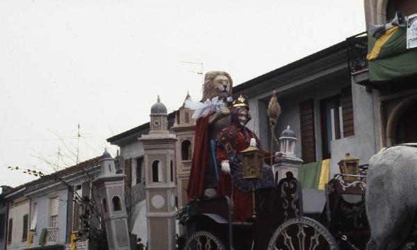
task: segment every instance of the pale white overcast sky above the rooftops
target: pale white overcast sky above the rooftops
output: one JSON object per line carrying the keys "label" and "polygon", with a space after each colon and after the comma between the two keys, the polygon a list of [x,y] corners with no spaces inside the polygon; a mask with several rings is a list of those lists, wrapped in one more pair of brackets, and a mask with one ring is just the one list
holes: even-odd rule
{"label": "pale white overcast sky above the rooftops", "polygon": [[201,98],[200,66],[181,60],[238,85],[362,31],[358,0],[0,0],[0,185],[34,178],[8,166],[99,156],[158,94],[169,111]]}

